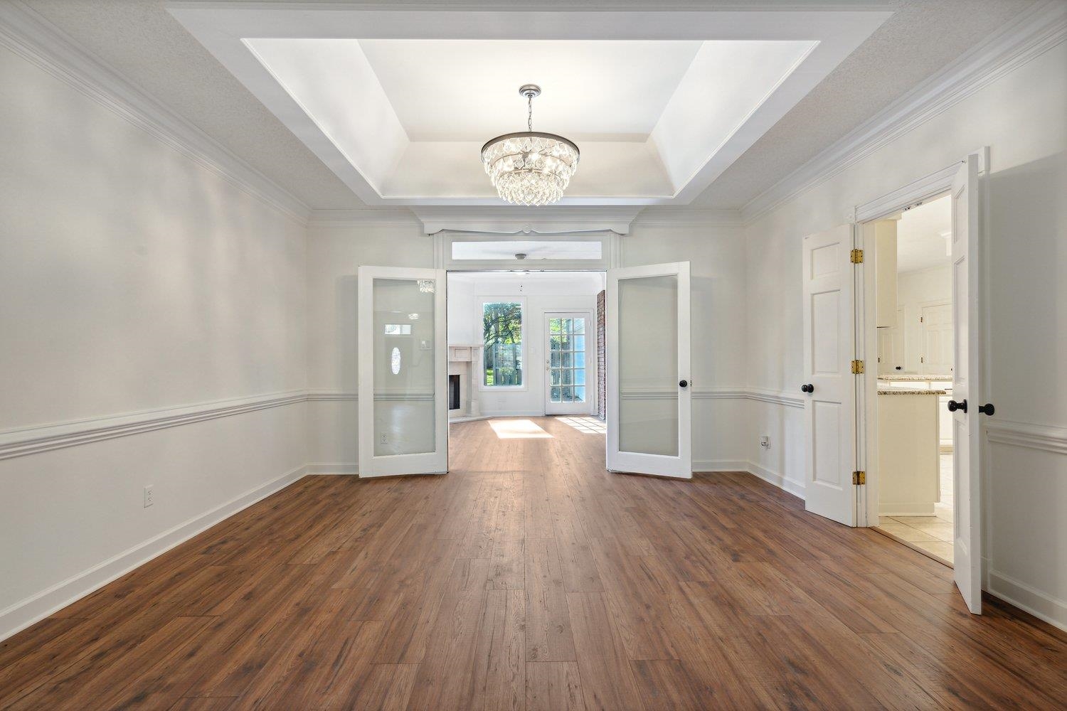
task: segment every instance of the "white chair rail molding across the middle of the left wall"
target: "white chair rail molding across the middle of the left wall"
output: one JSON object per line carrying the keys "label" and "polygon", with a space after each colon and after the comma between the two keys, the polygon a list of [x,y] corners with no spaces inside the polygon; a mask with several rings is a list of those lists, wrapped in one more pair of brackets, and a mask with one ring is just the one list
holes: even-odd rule
{"label": "white chair rail molding across the middle of the left wall", "polygon": [[138,435],[220,417],[243,415],[269,407],[282,407],[305,402],[308,399],[306,390],[290,390],[184,407],[127,413],[112,417],[7,430],[0,432],[0,459],[39,454],[64,447]]}

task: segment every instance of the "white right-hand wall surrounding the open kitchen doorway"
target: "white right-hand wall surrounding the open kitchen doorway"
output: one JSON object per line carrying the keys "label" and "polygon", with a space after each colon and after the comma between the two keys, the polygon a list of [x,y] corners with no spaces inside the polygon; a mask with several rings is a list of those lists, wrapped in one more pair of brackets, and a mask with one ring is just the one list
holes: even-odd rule
{"label": "white right-hand wall surrounding the open kitchen doorway", "polygon": [[[802,372],[801,239],[841,224],[849,208],[991,147],[987,341],[997,415],[987,422],[984,482],[988,588],[1061,625],[1067,624],[1065,67],[1061,43],[745,229],[748,383],[795,392]],[[752,427],[796,432],[800,411],[754,404]],[[1009,429],[1030,434],[1009,436]],[[802,484],[803,440],[786,437],[785,447],[770,465]]]}

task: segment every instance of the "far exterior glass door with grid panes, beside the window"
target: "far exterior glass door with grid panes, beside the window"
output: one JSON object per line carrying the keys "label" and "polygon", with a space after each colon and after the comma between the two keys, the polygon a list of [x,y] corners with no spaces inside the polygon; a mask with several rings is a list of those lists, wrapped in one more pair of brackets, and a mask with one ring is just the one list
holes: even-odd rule
{"label": "far exterior glass door with grid panes, beside the window", "polygon": [[588,312],[544,317],[544,414],[588,415],[595,387],[596,336]]}

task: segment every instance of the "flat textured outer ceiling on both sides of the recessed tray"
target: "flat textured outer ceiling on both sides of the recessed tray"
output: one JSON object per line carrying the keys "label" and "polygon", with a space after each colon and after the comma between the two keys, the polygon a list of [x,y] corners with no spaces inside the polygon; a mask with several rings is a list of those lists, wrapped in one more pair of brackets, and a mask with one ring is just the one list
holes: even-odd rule
{"label": "flat textured outer ceiling on both sides of the recessed tray", "polygon": [[[373,5],[375,1],[365,4]],[[833,141],[981,44],[1034,2],[883,0],[878,6],[892,10],[892,17],[758,138],[703,189],[692,205],[743,207]],[[308,207],[338,209],[366,205],[166,11],[164,0],[21,0],[21,3]],[[853,0],[842,3],[762,0],[759,4],[768,9],[813,10],[860,6]],[[324,5],[317,3],[319,7]],[[377,6],[383,6],[380,0]],[[428,5],[398,0],[389,6]],[[472,7],[514,9],[516,3],[442,0],[434,6],[447,14],[449,10],[466,12]],[[555,10],[555,21],[566,22],[582,10],[658,9],[678,14],[685,6],[736,9],[738,3],[673,0],[668,7],[651,0],[537,0],[523,6]],[[528,80],[521,80],[524,81]],[[552,91],[545,87],[545,100]]]}

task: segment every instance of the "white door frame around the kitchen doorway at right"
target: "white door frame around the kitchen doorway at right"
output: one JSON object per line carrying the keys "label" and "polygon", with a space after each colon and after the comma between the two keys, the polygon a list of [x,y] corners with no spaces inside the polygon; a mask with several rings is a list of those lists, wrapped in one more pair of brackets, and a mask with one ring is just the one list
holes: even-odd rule
{"label": "white door frame around the kitchen doorway at right", "polygon": [[[973,151],[971,155],[976,152],[978,155],[978,175],[980,178],[984,178],[989,173],[989,147],[985,146],[977,151]],[[905,208],[915,205],[924,200],[928,200],[935,197],[941,197],[942,195],[952,192],[953,179],[956,176],[959,166],[965,163],[966,160],[960,160],[951,165],[927,175],[919,180],[915,180],[903,188],[899,188],[887,195],[879,198],[865,203],[863,205],[858,205],[848,215],[849,221],[853,223],[853,229],[855,230],[855,238],[857,244],[863,248],[864,262],[867,261],[867,255],[875,254],[875,245],[873,239],[864,241],[863,236],[863,224],[873,222],[875,220],[885,217],[889,214],[899,212]],[[983,253],[983,263],[980,265],[982,269],[983,279],[976,280],[973,284],[968,285],[968,298],[976,300],[981,306],[985,306],[987,297],[985,295],[985,285],[988,284],[988,223],[986,219],[989,200],[986,198],[988,187],[985,180],[980,180],[980,189],[977,196],[981,199],[980,210],[982,211],[982,220],[980,221],[980,235],[978,239],[982,244]],[[864,264],[866,266],[866,264]],[[870,278],[866,276],[870,274]],[[878,332],[875,321],[875,280],[874,280],[874,270],[873,269],[858,269],[856,270],[856,333],[858,338],[856,339],[857,348],[857,358],[863,360],[866,363],[877,363],[878,359]],[[988,340],[986,339],[986,333],[988,332],[987,320],[989,318],[989,309],[982,308],[982,313],[984,318],[978,323],[968,324],[968,333],[971,339],[976,339],[980,348],[983,350],[984,358],[984,370],[982,372],[975,373],[974,375],[981,378],[983,385],[982,390],[988,392],[988,363],[989,363],[989,353],[988,353]],[[955,334],[955,332],[954,332]],[[860,497],[860,502],[863,504],[863,511],[859,513],[857,517],[858,526],[875,527],[878,526],[878,431],[877,431],[877,402],[878,402],[878,369],[865,368],[864,374],[860,377],[861,385],[857,388],[857,406],[856,406],[856,431],[857,431],[857,468],[859,470],[866,472],[866,484],[862,485],[864,489],[863,496]],[[982,426],[985,426],[983,422]],[[984,510],[983,502],[989,500],[987,492],[987,482],[988,476],[985,475],[983,471],[983,463],[988,460],[988,456],[985,455],[985,450],[987,447],[985,437],[983,435],[981,447],[983,448],[983,456],[980,457],[978,467],[976,471],[972,471],[972,475],[976,475],[980,482],[980,492],[981,499],[980,506]],[[953,501],[954,510],[959,505],[957,500]],[[954,515],[958,512],[954,511]],[[985,517],[983,517],[985,518]],[[982,526],[981,537],[983,542],[983,547],[985,550],[989,550],[985,545],[987,544],[987,531],[988,526]],[[985,568],[984,562],[980,562]],[[985,580],[986,575],[983,569],[982,572],[983,587],[986,586]]]}

